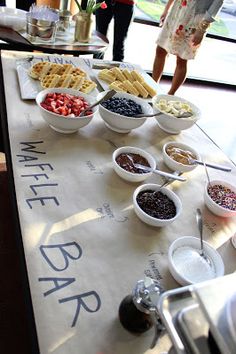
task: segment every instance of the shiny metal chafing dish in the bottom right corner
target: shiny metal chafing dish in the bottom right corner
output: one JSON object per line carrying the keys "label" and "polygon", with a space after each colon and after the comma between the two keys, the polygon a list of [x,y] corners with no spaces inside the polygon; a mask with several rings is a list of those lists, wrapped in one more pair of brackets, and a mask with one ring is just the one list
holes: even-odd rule
{"label": "shiny metal chafing dish in the bottom right corner", "polygon": [[236,353],[236,338],[226,312],[236,293],[235,284],[233,273],[161,295],[158,312],[176,353]]}

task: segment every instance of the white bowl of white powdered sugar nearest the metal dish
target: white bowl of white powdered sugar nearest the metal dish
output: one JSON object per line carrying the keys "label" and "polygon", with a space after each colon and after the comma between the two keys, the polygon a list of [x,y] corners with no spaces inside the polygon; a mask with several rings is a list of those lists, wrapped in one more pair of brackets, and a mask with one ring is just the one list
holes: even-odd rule
{"label": "white bowl of white powdered sugar nearest the metal dish", "polygon": [[176,239],[168,250],[168,266],[173,278],[181,285],[190,285],[224,275],[224,263],[220,254],[203,241],[209,265],[200,256],[200,238],[184,236]]}

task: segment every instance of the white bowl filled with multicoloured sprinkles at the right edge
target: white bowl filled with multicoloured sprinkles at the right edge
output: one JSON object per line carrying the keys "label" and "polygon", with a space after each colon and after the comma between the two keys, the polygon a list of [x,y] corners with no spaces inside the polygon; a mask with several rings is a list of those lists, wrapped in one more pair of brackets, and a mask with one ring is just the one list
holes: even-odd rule
{"label": "white bowl filled with multicoloured sprinkles at the right edge", "polygon": [[220,180],[208,182],[204,200],[208,209],[217,216],[236,216],[236,186]]}

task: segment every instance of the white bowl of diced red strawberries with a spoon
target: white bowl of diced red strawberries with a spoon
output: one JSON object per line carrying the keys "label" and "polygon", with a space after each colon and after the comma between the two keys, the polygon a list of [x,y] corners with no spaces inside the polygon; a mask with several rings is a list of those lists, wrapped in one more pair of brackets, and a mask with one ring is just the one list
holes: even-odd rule
{"label": "white bowl of diced red strawberries with a spoon", "polygon": [[59,133],[75,133],[93,119],[98,108],[83,111],[96,98],[80,91],[66,88],[50,88],[38,93],[36,103],[43,119]]}

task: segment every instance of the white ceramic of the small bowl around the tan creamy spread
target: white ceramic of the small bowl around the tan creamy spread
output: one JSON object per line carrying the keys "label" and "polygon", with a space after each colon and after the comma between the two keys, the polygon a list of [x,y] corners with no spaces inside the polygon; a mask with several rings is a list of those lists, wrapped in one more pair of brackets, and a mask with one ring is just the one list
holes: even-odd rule
{"label": "white ceramic of the small bowl around the tan creamy spread", "polygon": [[197,152],[197,150],[195,150],[191,146],[183,144],[183,143],[177,143],[176,141],[170,141],[163,146],[162,156],[163,156],[163,161],[171,170],[180,171],[180,172],[189,172],[197,167],[197,165],[185,165],[181,162],[177,162],[174,159],[172,159],[166,152],[166,149],[172,145],[177,148],[192,152],[195,156],[195,159],[197,159],[197,160],[200,160],[200,158],[201,158],[199,153]]}

